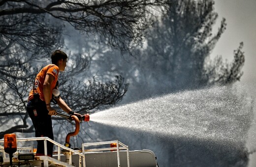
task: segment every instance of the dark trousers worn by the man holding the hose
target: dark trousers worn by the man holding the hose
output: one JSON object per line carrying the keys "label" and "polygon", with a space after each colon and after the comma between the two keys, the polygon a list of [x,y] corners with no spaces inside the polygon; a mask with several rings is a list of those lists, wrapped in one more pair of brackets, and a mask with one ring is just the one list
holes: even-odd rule
{"label": "dark trousers worn by the man holding the hose", "polygon": [[[35,129],[35,137],[53,138],[52,118],[48,115],[45,102],[39,100],[34,103],[33,100],[27,104],[27,111],[32,119]],[[37,155],[44,155],[44,140],[37,140]],[[53,143],[47,141],[47,155],[52,157]]]}

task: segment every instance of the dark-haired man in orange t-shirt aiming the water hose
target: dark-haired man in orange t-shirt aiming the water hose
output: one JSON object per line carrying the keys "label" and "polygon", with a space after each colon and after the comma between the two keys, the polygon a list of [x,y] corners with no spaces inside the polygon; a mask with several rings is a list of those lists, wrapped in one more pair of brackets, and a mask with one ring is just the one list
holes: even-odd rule
{"label": "dark-haired man in orange t-shirt aiming the water hose", "polygon": [[[32,119],[35,129],[35,137],[48,137],[54,139],[52,128],[52,115],[57,111],[52,108],[51,101],[59,105],[69,115],[80,115],[72,111],[60,96],[54,97],[53,91],[58,92],[58,75],[65,70],[67,55],[56,50],[51,55],[52,64],[48,64],[36,75],[33,88],[29,94],[27,111]],[[81,115],[80,115],[81,116]],[[52,157],[53,143],[47,141],[47,155]],[[44,155],[44,142],[37,140],[36,156]]]}

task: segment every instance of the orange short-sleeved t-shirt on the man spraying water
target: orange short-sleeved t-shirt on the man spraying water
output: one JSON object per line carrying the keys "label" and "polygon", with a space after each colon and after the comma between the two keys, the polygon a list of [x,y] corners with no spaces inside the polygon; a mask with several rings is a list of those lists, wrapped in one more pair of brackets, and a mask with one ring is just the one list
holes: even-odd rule
{"label": "orange short-sleeved t-shirt on the man spraying water", "polygon": [[39,94],[40,99],[42,101],[45,101],[44,95],[43,95],[43,83],[44,83],[46,74],[50,74],[50,75],[54,76],[54,81],[51,85],[51,94],[52,94],[52,90],[55,88],[56,83],[58,81],[58,74],[59,74],[59,67],[55,64],[49,64],[49,65],[43,67],[41,69],[41,71],[36,75],[35,81],[33,83],[35,90],[33,90],[33,88],[32,88],[32,90],[30,91],[28,100],[33,99],[33,92],[35,92],[35,93]]}

